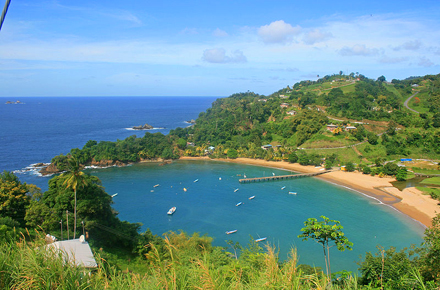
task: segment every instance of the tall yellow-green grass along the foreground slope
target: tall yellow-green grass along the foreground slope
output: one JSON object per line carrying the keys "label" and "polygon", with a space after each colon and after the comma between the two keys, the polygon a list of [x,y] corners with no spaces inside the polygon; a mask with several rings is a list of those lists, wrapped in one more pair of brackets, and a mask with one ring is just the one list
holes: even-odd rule
{"label": "tall yellow-green grass along the foreground slope", "polygon": [[[42,238],[3,243],[0,289],[371,289],[352,276],[329,282],[320,270],[303,273],[295,249],[284,262],[269,245],[264,253],[251,251],[247,260],[225,259],[227,253],[205,247],[204,240],[176,234],[165,237],[163,245],[148,245],[150,251],[139,262],[147,265],[145,274],[120,271],[100,255],[93,271],[74,266],[60,253],[46,250]],[[433,289],[416,271],[410,278],[407,285]]]}

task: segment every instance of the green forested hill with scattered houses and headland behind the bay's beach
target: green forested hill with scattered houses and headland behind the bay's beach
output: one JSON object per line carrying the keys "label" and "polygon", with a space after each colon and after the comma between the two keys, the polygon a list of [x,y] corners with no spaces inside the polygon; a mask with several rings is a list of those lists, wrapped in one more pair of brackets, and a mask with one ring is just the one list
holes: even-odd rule
{"label": "green forested hill with scattered houses and headland behind the bay's beach", "polygon": [[[346,150],[353,145],[354,150]],[[303,158],[309,163],[329,155],[340,163],[356,162],[361,156],[373,163],[383,157],[438,159],[438,154],[440,75],[387,82],[383,76],[372,80],[354,73],[302,81],[269,96],[234,94],[216,100],[194,126],[167,136],[89,141],[70,153],[82,164],[98,165],[202,155],[266,160],[314,156]],[[62,167],[65,160],[57,156],[52,161]]]}

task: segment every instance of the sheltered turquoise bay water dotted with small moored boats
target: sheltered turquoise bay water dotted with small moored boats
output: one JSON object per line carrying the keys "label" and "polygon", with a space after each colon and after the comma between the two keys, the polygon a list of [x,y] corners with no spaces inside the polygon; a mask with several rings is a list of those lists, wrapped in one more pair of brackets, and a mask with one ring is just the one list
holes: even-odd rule
{"label": "sheltered turquoise bay water dotted with small moored boats", "polygon": [[[331,250],[333,271],[356,271],[360,255],[376,252],[377,245],[401,249],[422,242],[424,229],[418,222],[374,199],[317,178],[238,182],[244,174],[258,177],[290,173],[279,169],[177,161],[165,166],[143,163],[89,173],[101,179],[109,194],[118,193],[113,207],[122,220],[141,222],[143,231],[150,228],[157,235],[178,230],[199,232],[214,237],[214,245],[224,247],[229,239],[247,245],[251,236],[267,237],[267,242],[279,249],[281,259],[293,246],[298,249],[300,263],[324,267],[320,244],[301,241],[297,236],[307,218],[325,215],[339,220],[354,243],[353,251]],[[156,184],[159,186],[154,187]],[[286,188],[281,189],[283,186]],[[255,198],[249,200],[253,195]],[[238,202],[243,204],[236,206]],[[173,206],[177,210],[168,216]],[[225,234],[234,229],[237,233]]]}

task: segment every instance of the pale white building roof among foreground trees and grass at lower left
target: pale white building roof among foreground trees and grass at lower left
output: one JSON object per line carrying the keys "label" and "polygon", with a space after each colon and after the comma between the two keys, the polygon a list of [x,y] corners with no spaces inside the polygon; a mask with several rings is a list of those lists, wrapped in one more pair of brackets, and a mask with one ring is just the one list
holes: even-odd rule
{"label": "pale white building roof among foreground trees and grass at lower left", "polygon": [[62,251],[67,255],[67,260],[76,266],[86,268],[98,267],[89,243],[84,240],[84,236],[81,236],[79,239],[75,240],[54,242],[46,247],[48,249]]}

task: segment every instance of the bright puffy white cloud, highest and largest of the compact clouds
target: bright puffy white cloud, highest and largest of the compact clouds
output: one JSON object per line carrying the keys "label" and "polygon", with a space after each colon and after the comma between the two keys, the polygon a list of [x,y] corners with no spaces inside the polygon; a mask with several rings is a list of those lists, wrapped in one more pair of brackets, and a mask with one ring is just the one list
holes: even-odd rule
{"label": "bright puffy white cloud, highest and largest of the compact clouds", "polygon": [[295,35],[301,32],[301,27],[285,23],[283,20],[274,21],[269,25],[261,26],[258,35],[264,43],[286,43],[290,42]]}

